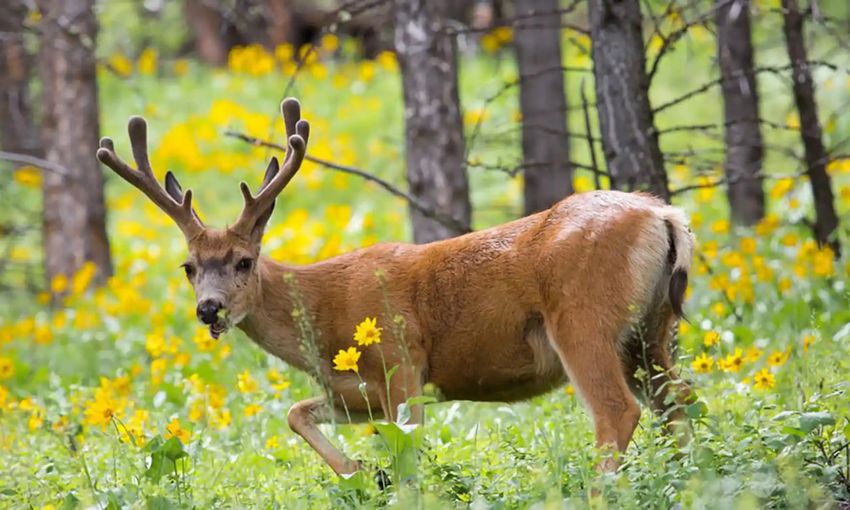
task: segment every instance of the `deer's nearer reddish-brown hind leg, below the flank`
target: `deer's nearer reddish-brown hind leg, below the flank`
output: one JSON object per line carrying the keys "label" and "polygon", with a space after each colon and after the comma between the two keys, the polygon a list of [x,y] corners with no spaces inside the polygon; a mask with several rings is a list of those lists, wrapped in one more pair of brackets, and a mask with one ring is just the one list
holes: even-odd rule
{"label": "deer's nearer reddish-brown hind leg, below the flank", "polygon": [[[640,419],[640,407],[629,391],[617,352],[616,332],[600,331],[598,318],[579,315],[570,319],[554,314],[547,320],[552,346],[561,358],[570,381],[590,408],[596,445],[623,453]],[[613,328],[609,328],[613,329]],[[615,471],[618,461],[609,452],[601,471]]]}

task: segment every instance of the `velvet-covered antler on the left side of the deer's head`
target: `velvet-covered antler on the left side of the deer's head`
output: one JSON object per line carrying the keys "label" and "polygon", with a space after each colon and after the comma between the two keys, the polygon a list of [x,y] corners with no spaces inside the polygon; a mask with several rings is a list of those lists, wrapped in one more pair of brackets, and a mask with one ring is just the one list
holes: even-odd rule
{"label": "velvet-covered antler on the left side of the deer's head", "polygon": [[182,200],[177,202],[160,186],[153,175],[150,159],[148,158],[147,123],[142,117],[134,116],[127,124],[133,158],[138,170],[134,170],[118,154],[112,139],[105,137],[100,140],[97,159],[111,168],[125,181],[129,182],[155,203],[163,212],[177,223],[187,238],[194,237],[203,230],[203,224],[192,209],[192,190],[183,193]]}

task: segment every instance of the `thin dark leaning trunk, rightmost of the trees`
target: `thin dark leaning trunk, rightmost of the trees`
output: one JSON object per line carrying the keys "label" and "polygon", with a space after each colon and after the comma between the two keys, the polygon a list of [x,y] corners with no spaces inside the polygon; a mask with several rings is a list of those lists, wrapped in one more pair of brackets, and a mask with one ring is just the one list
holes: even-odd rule
{"label": "thin dark leaning trunk, rightmost of the trees", "polygon": [[800,114],[800,134],[806,153],[806,169],[815,201],[814,233],[818,244],[830,245],[838,251],[838,241],[832,237],[838,228],[838,216],[833,204],[832,183],[826,173],[829,156],[823,147],[820,120],[815,103],[815,86],[809,70],[806,46],[803,41],[803,16],[796,0],[782,0],[783,31],[792,66],[794,101]]}

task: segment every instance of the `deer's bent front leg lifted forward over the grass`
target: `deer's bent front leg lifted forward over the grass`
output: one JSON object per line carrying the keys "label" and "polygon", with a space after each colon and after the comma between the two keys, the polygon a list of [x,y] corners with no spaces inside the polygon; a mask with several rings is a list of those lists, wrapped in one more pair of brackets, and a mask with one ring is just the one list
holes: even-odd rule
{"label": "deer's bent front leg lifted forward over the grass", "polygon": [[[360,418],[358,414],[351,415],[353,421],[361,421]],[[329,423],[331,419],[348,423],[349,417],[336,409],[333,404],[329,404],[325,397],[308,398],[297,402],[289,409],[287,416],[289,428],[303,437],[336,474],[350,475],[360,468],[360,464],[343,455],[319,430],[320,423]]]}

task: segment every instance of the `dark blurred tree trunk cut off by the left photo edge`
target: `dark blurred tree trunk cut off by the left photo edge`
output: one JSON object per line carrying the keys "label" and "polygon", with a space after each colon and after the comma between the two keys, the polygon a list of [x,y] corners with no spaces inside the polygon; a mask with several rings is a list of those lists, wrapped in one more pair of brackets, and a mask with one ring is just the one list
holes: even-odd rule
{"label": "dark blurred tree trunk cut off by the left photo edge", "polygon": [[41,156],[30,108],[32,58],[24,47],[22,0],[0,3],[0,147],[8,152]]}

